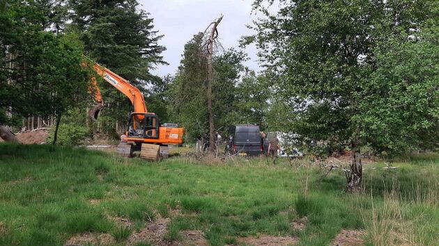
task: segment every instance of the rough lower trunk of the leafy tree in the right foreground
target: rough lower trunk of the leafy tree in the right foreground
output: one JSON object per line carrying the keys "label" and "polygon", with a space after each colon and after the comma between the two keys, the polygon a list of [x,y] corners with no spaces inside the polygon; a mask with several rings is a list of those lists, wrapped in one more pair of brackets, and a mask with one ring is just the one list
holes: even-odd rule
{"label": "rough lower trunk of the leafy tree in the right foreground", "polygon": [[356,192],[362,189],[363,179],[360,145],[357,140],[351,142],[351,151],[351,172],[349,172],[347,188],[351,192]]}

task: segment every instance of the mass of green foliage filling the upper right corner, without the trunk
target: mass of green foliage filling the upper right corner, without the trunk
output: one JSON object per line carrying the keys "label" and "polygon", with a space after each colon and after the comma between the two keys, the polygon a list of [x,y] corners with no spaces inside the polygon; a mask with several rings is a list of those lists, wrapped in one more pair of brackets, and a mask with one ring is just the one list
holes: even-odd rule
{"label": "mass of green foliage filling the upper right corner, without the trunk", "polygon": [[266,6],[254,1],[266,18],[243,43],[259,47],[273,106],[289,108],[272,107],[284,131],[324,154],[351,140],[378,151],[437,142],[436,1],[281,1],[274,15]]}

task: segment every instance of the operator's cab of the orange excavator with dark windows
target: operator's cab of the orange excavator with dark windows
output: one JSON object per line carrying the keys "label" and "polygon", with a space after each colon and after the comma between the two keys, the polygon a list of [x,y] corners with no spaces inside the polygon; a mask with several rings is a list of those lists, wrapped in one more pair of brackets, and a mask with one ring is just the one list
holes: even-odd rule
{"label": "operator's cab of the orange excavator with dark windows", "polygon": [[132,113],[128,121],[128,137],[159,138],[159,119],[151,113]]}

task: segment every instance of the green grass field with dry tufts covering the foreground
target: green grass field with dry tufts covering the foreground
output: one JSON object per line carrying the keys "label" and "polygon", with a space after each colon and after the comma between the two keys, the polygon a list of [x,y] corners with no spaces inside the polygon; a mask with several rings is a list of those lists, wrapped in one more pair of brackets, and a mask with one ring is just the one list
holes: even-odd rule
{"label": "green grass field with dry tufts covering the foreground", "polygon": [[[0,245],[64,245],[82,233],[101,244],[132,243],[133,233],[163,218],[163,242],[203,231],[210,245],[240,238],[291,236],[330,245],[342,229],[364,231],[366,245],[438,245],[439,155],[365,165],[364,192],[344,192],[343,174],[310,161],[264,159],[161,163],[50,145],[0,145]],[[112,218],[123,218],[123,225]],[[307,218],[305,229],[292,226]],[[184,244],[184,243],[183,243]]]}

